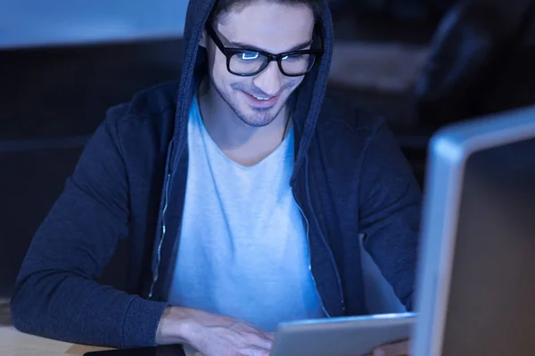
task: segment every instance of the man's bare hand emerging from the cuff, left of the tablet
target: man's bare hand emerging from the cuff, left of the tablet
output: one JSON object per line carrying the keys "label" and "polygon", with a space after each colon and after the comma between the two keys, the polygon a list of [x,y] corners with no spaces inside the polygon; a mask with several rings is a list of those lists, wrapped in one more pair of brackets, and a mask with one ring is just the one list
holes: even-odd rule
{"label": "man's bare hand emerging from the cuff, left of the tablet", "polygon": [[161,318],[158,344],[190,344],[204,356],[268,356],[274,335],[224,315],[170,307]]}

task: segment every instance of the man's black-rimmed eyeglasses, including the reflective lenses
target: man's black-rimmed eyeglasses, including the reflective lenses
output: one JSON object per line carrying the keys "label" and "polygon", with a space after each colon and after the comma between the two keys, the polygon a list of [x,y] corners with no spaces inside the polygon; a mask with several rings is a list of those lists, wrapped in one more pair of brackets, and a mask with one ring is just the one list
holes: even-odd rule
{"label": "man's black-rimmed eyeglasses, including the reflective lenses", "polygon": [[300,77],[309,73],[324,53],[323,49],[309,49],[280,54],[246,48],[227,48],[219,39],[216,31],[207,24],[206,31],[219,51],[226,56],[226,69],[235,76],[252,77],[268,67],[271,61],[276,61],[284,76]]}

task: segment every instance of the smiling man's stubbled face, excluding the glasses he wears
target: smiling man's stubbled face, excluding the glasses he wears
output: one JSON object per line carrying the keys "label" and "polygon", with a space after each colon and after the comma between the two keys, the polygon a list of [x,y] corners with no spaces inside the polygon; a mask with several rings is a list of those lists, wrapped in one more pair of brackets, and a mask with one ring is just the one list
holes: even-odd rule
{"label": "smiling man's stubbled face, excluding the glasses he wears", "polygon": [[[226,12],[218,23],[213,24],[213,28],[226,47],[278,54],[296,47],[310,48],[314,15],[303,4],[252,2],[241,9]],[[206,32],[202,45],[208,51],[211,85],[247,125],[261,127],[270,124],[304,78],[284,76],[276,61],[271,61],[266,69],[253,77],[235,76],[227,70],[226,56]]]}

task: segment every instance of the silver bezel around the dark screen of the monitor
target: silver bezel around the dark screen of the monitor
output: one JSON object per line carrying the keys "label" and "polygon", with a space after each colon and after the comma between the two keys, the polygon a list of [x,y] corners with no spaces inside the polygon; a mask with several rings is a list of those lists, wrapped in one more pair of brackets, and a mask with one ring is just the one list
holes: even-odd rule
{"label": "silver bezel around the dark screen of the monitor", "polygon": [[441,354],[466,161],[475,152],[531,138],[535,106],[448,125],[433,135],[425,176],[412,355]]}

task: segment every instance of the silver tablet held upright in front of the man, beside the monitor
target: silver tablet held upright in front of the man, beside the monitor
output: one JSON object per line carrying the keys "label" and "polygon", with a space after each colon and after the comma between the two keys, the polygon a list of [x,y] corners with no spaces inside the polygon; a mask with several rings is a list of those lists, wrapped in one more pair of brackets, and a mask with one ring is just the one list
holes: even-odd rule
{"label": "silver tablet held upright in front of the man, beside the monitor", "polygon": [[377,314],[279,324],[270,356],[363,356],[411,336],[416,313]]}

